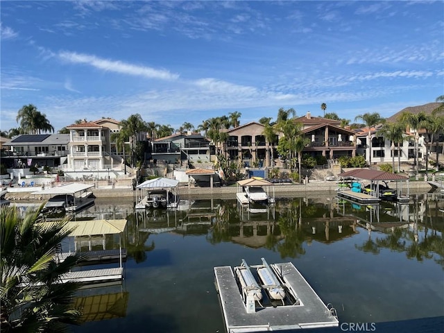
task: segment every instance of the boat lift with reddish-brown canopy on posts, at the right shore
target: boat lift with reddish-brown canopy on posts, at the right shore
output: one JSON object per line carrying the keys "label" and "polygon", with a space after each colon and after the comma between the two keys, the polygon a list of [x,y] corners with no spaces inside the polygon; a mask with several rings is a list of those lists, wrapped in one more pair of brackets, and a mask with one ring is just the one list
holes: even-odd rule
{"label": "boat lift with reddish-brown canopy on posts, at the right shore", "polygon": [[[373,196],[373,198],[379,198],[379,182],[383,181],[395,181],[396,182],[396,191],[398,196],[396,197],[396,200],[398,202],[408,202],[409,201],[409,177],[398,175],[397,173],[391,173],[387,171],[377,171],[377,170],[370,170],[370,169],[355,169],[346,171],[343,173],[339,173],[339,178],[355,178],[357,180],[367,180],[370,182],[370,188],[375,186],[375,194],[376,196]],[[407,196],[402,196],[402,188],[398,187],[398,182],[407,182]],[[338,196],[345,196],[347,198],[355,199],[358,201],[366,202],[365,199],[361,198],[362,194],[357,193],[354,191],[338,191]]]}

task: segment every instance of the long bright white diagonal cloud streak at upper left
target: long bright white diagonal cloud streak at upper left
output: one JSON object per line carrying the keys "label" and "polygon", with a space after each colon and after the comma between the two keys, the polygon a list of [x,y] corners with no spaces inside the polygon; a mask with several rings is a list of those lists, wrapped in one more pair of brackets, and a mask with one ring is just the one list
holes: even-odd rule
{"label": "long bright white diagonal cloud streak at upper left", "polygon": [[102,59],[88,54],[61,51],[58,53],[58,57],[73,64],[89,65],[103,71],[111,71],[130,76],[144,76],[145,78],[155,78],[160,80],[176,80],[179,78],[178,74],[173,74],[167,70],[132,65],[119,60]]}

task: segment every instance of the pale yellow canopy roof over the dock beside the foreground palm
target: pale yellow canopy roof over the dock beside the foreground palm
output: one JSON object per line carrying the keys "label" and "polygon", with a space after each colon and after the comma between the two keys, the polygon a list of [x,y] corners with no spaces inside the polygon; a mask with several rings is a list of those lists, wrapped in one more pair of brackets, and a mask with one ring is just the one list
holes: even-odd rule
{"label": "pale yellow canopy roof over the dock beside the foreground palm", "polygon": [[125,230],[126,219],[69,221],[66,227],[73,229],[69,234],[71,237],[90,236],[94,234],[119,234]]}

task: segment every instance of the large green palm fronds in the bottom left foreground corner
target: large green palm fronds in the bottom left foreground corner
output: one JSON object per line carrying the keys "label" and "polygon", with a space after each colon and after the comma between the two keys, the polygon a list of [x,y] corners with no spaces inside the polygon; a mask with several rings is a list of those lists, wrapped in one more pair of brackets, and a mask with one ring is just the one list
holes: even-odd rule
{"label": "large green palm fronds in the bottom left foreground corner", "polygon": [[26,210],[0,210],[0,330],[1,332],[63,332],[76,324],[80,311],[72,308],[78,282],[60,283],[82,256],[56,259],[60,242],[72,230],[68,221],[41,223],[43,205]]}

